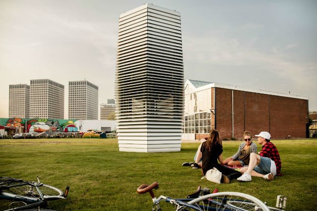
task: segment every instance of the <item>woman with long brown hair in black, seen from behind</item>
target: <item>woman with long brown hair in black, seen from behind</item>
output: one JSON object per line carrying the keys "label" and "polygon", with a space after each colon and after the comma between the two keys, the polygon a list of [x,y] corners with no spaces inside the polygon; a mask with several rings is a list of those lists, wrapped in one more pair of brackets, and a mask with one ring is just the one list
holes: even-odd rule
{"label": "woman with long brown hair in black, seen from behind", "polygon": [[197,159],[202,157],[202,173],[206,172],[214,167],[222,173],[221,182],[230,183],[230,180],[236,179],[241,176],[241,173],[222,166],[218,163],[223,161],[222,158],[222,141],[220,139],[219,132],[217,130],[211,130],[206,142],[203,142],[200,147],[200,152],[197,155]]}

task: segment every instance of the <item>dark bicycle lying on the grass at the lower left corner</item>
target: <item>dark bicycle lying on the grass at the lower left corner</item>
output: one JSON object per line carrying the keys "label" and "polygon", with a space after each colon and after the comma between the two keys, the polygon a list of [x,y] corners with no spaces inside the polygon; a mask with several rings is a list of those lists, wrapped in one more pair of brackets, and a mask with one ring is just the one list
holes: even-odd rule
{"label": "dark bicycle lying on the grass at the lower left corner", "polygon": [[[12,177],[0,177],[0,199],[12,201],[6,211],[49,210],[40,209],[39,207],[47,206],[48,201],[65,199],[69,189],[70,187],[67,186],[65,192],[62,192],[57,187],[41,183],[38,176],[37,182],[24,181]],[[15,207],[10,208],[11,206]]]}

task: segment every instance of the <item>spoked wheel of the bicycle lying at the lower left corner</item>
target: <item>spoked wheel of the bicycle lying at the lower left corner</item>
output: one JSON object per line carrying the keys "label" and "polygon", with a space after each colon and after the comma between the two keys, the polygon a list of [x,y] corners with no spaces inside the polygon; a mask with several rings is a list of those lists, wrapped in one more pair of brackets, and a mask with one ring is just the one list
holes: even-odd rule
{"label": "spoked wheel of the bicycle lying at the lower left corner", "polygon": [[[3,190],[4,193],[10,194],[13,197],[18,196],[16,198],[29,198],[29,199],[41,199],[40,194],[38,193],[35,186],[32,185],[34,182],[28,182],[21,179],[4,177],[0,178],[0,182],[4,185],[8,186],[8,190]],[[57,187],[41,184],[37,186],[43,196],[63,196],[63,192]]]}

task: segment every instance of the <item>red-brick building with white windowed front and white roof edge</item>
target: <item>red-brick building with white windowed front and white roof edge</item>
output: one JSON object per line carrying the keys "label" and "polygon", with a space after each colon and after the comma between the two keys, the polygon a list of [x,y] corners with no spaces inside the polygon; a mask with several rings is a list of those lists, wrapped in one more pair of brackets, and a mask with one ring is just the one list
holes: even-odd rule
{"label": "red-brick building with white windowed front and white roof edge", "polygon": [[222,138],[268,131],[272,138],[308,136],[308,98],[228,84],[187,80],[183,139],[200,139],[215,128]]}

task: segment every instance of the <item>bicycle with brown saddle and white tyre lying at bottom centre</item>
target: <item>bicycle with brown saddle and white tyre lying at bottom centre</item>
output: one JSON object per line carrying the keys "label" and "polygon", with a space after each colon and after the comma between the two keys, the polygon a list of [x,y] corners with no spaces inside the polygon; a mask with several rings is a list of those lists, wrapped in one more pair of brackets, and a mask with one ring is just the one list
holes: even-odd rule
{"label": "bicycle with brown saddle and white tyre lying at bottom centre", "polygon": [[[156,198],[153,189],[158,189],[159,183],[153,182],[151,185],[142,184],[138,187],[137,192],[139,194],[144,194],[149,192],[152,201],[153,207],[152,211],[161,211],[160,201],[166,201],[174,205],[175,211],[184,211],[184,210],[233,210],[233,211],[245,211],[245,210],[257,210],[257,211],[283,211],[279,208],[268,207],[261,200],[238,192],[219,192],[210,194],[210,190],[206,187],[201,189],[201,186],[198,186],[198,189],[195,193],[188,195],[185,199],[172,199],[166,196],[160,196]],[[284,200],[285,199],[285,200]],[[277,207],[285,208],[286,198],[278,198]]]}

